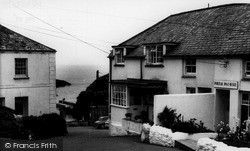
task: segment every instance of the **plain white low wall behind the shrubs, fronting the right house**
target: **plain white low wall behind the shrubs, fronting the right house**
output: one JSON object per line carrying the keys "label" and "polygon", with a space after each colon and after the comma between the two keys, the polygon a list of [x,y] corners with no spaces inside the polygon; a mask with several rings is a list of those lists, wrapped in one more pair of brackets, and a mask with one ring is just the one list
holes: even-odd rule
{"label": "plain white low wall behind the shrubs, fronting the right house", "polygon": [[215,126],[215,94],[170,94],[154,96],[154,123],[159,124],[158,114],[165,106],[176,109],[177,114],[182,114],[184,120],[196,118],[204,125],[214,130]]}

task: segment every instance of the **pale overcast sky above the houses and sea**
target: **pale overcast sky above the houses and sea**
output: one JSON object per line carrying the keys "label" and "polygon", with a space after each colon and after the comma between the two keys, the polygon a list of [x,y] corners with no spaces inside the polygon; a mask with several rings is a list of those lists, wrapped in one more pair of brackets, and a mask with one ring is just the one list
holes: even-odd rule
{"label": "pale overcast sky above the houses and sea", "polygon": [[162,19],[250,0],[0,0],[0,24],[57,50],[56,65],[108,72],[108,53]]}

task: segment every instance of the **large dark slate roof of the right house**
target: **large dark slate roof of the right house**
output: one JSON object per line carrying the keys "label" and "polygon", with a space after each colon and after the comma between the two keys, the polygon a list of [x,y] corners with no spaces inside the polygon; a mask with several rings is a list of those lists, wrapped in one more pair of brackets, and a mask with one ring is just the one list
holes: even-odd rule
{"label": "large dark slate roof of the right house", "polygon": [[228,4],[171,15],[119,44],[139,45],[128,56],[143,56],[142,44],[174,42],[166,56],[250,55],[250,4]]}

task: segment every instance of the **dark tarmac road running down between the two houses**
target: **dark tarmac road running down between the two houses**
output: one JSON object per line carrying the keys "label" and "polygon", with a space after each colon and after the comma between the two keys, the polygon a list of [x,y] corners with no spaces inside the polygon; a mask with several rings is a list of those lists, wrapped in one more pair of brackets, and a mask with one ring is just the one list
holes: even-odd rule
{"label": "dark tarmac road running down between the two houses", "polygon": [[68,127],[63,137],[64,151],[180,151],[176,148],[145,144],[138,136],[110,137],[109,130],[94,127]]}

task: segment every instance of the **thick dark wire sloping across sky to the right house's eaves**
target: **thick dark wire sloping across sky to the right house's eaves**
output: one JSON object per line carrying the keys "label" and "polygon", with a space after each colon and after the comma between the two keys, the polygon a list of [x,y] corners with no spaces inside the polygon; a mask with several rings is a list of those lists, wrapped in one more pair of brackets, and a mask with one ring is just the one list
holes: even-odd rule
{"label": "thick dark wire sloping across sky to the right house's eaves", "polygon": [[105,50],[102,50],[101,48],[98,48],[98,47],[96,47],[95,45],[90,44],[90,43],[88,43],[88,42],[86,42],[86,41],[83,41],[83,40],[81,40],[80,38],[77,38],[76,36],[74,36],[74,35],[72,35],[72,34],[70,34],[70,33],[68,33],[68,32],[65,32],[64,30],[61,30],[60,28],[58,28],[58,27],[56,27],[56,26],[54,26],[54,25],[52,25],[52,24],[50,24],[50,23],[48,23],[48,22],[46,22],[46,21],[44,21],[44,20],[42,20],[42,19],[40,19],[40,18],[38,18],[38,17],[36,17],[35,15],[33,15],[33,14],[31,14],[31,13],[29,13],[29,12],[27,12],[27,11],[25,11],[25,10],[23,10],[23,9],[21,9],[21,8],[19,8],[19,7],[17,7],[17,6],[15,6],[15,5],[14,5],[14,7],[16,7],[17,9],[21,10],[22,12],[24,12],[24,13],[26,13],[26,14],[28,14],[28,15],[30,15],[30,16],[32,16],[32,17],[38,19],[38,20],[40,20],[41,22],[43,22],[43,23],[45,23],[45,24],[47,24],[47,25],[49,25],[49,26],[51,26],[51,27],[57,29],[58,31],[60,31],[60,32],[66,34],[66,35],[68,35],[68,36],[70,36],[70,37],[72,37],[72,38],[74,38],[74,39],[76,39],[76,40],[78,40],[78,41],[80,41],[80,42],[82,42],[82,43],[85,43],[85,44],[87,44],[87,45],[89,45],[89,46],[91,46],[91,47],[93,47],[93,48],[95,48],[95,49],[97,49],[97,50],[99,50],[99,51],[101,51],[101,52],[103,52],[103,53],[109,54],[109,52],[107,52],[107,51],[105,51]]}

